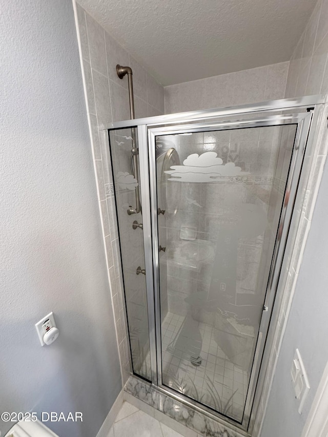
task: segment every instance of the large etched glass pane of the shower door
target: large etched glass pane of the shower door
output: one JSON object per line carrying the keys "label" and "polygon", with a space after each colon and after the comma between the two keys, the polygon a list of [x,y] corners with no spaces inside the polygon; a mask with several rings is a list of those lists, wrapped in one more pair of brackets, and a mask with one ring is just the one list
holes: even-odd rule
{"label": "large etched glass pane of the shower door", "polygon": [[291,124],[156,137],[162,383],[237,422],[295,135]]}

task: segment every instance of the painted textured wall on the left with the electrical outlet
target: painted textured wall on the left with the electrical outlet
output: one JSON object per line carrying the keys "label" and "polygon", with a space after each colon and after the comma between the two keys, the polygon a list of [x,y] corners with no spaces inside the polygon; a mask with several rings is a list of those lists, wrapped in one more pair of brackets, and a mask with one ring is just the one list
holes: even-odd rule
{"label": "painted textured wall on the left with the electrical outlet", "polygon": [[[81,411],[49,427],[92,437],[121,379],[73,9],[1,9],[0,410]],[[49,311],[60,336],[41,347]]]}

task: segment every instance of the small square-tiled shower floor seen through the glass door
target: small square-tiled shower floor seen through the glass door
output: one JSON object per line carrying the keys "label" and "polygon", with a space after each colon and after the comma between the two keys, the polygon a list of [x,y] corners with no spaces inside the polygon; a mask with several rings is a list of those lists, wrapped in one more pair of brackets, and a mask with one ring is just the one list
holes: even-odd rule
{"label": "small square-tiled shower floor seen through the glass door", "polygon": [[174,350],[185,317],[168,313],[162,323],[163,382],[216,410],[240,419],[247,396],[248,376],[234,365],[215,341],[215,330],[198,323],[202,337],[201,364],[195,367]]}

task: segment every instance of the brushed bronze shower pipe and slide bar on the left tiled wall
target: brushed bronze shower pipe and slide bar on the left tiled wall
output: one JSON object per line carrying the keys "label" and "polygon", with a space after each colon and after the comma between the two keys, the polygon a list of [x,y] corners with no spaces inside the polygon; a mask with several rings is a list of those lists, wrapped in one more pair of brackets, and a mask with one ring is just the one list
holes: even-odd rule
{"label": "brushed bronze shower pipe and slide bar on the left tiled wall", "polygon": [[[117,76],[122,79],[127,74],[128,75],[128,86],[129,86],[129,101],[130,101],[130,116],[131,120],[134,119],[134,97],[133,97],[133,81],[132,81],[132,69],[131,67],[123,67],[121,65],[116,66]],[[136,206],[133,207],[129,205],[128,214],[131,216],[132,214],[137,214],[141,212],[141,202],[140,202],[140,194],[139,194],[139,171],[138,171],[138,148],[136,147],[136,136],[135,136],[135,128],[131,128],[132,133],[132,149],[131,149],[131,158],[130,158],[130,169],[131,174],[134,176],[138,185],[135,188],[135,203]]]}

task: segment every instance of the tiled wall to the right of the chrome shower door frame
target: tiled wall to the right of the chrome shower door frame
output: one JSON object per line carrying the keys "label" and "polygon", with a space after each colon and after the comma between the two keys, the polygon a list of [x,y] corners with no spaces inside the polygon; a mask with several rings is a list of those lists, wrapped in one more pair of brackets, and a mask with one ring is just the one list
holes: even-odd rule
{"label": "tiled wall to the right of the chrome shower door frame", "polygon": [[[290,61],[285,97],[326,94],[328,92],[328,0],[319,0],[308,25],[294,50]],[[327,100],[326,100],[327,101]],[[326,117],[328,108],[325,105],[321,125],[313,144],[312,153],[308,153],[305,165],[309,178],[303,179],[299,188],[296,205],[299,222],[291,230],[294,245],[289,252],[286,266],[282,272],[281,287],[284,289],[282,300],[276,304],[279,313],[276,329],[270,332],[274,348],[271,350],[268,366],[263,372],[264,389],[259,400],[259,412],[254,424],[254,435],[262,435],[261,427],[265,410],[270,397],[270,390],[278,361],[278,355],[290,313],[297,278],[301,266],[306,238],[308,237],[314,206],[319,190],[323,167],[327,154]],[[264,370],[264,369],[263,369]]]}

